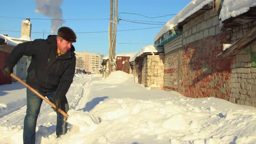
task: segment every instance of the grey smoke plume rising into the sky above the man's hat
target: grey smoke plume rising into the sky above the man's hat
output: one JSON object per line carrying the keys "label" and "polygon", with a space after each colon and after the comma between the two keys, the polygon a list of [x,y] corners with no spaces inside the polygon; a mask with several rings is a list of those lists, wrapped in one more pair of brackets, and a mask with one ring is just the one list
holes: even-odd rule
{"label": "grey smoke plume rising into the sky above the man's hat", "polygon": [[66,21],[64,20],[56,20],[62,19],[62,10],[60,5],[62,4],[62,0],[36,0],[36,13],[43,14],[44,16],[51,17],[53,20],[51,21],[51,33],[56,33],[58,27],[62,26]]}

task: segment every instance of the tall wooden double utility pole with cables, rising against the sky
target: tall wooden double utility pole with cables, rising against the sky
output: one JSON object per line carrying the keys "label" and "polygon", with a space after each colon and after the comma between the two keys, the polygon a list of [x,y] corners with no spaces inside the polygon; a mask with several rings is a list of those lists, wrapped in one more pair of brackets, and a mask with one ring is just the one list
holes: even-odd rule
{"label": "tall wooden double utility pole with cables, rising against the sky", "polygon": [[[110,22],[109,22],[109,56],[108,56],[108,69],[111,73],[113,66],[115,66],[115,42],[116,42],[116,26],[117,26],[117,7],[118,0],[115,0],[115,20],[113,22],[113,0],[110,0]],[[114,31],[112,31],[114,23]]]}

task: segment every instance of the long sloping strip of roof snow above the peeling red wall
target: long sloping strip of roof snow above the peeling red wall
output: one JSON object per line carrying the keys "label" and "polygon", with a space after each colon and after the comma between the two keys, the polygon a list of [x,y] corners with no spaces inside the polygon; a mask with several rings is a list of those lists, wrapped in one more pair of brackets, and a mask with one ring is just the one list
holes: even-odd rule
{"label": "long sloping strip of roof snow above the peeling red wall", "polygon": [[187,4],[184,9],[179,11],[176,16],[169,20],[160,30],[160,32],[155,36],[154,42],[157,41],[164,33],[167,33],[169,30],[174,29],[177,23],[182,22],[188,16],[191,16],[193,13],[200,10],[206,4],[213,2],[213,0],[192,0]]}

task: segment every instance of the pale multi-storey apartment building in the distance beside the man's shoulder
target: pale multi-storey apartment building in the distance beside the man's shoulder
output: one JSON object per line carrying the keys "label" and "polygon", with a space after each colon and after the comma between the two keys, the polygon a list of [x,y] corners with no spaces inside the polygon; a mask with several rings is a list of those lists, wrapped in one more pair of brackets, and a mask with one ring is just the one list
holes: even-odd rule
{"label": "pale multi-storey apartment building in the distance beside the man's shoulder", "polygon": [[103,55],[99,53],[75,52],[77,68],[84,69],[86,72],[93,72],[93,69],[101,68]]}

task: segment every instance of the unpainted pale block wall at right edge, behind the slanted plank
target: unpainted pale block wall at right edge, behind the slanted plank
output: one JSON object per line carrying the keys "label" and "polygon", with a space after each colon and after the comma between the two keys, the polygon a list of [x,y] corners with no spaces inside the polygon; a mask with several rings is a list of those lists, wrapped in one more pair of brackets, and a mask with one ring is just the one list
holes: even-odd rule
{"label": "unpainted pale block wall at right edge, behind the slanted plank", "polygon": [[[252,26],[253,22],[232,29],[231,43],[242,38]],[[256,107],[256,42],[234,56],[230,88],[229,101]]]}

